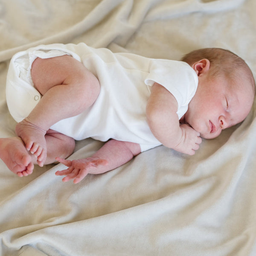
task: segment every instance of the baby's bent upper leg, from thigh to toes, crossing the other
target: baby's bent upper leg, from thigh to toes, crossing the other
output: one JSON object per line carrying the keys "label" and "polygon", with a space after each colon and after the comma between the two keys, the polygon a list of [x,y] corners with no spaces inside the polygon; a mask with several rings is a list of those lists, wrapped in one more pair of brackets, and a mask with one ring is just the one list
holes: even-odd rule
{"label": "baby's bent upper leg, from thigh to toes, crossing the other", "polygon": [[100,85],[81,62],[69,55],[35,59],[31,76],[43,96],[29,116],[17,125],[16,134],[38,161],[44,163],[45,132],[56,122],[89,108],[99,95]]}

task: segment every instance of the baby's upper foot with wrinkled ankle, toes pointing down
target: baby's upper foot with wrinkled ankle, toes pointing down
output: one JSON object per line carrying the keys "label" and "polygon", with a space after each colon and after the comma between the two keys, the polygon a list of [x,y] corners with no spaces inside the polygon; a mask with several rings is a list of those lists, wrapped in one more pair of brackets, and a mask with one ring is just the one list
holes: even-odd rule
{"label": "baby's upper foot with wrinkled ankle, toes pointing down", "polygon": [[25,147],[31,154],[37,157],[39,166],[43,166],[47,157],[46,131],[23,119],[16,125],[16,134],[25,143]]}

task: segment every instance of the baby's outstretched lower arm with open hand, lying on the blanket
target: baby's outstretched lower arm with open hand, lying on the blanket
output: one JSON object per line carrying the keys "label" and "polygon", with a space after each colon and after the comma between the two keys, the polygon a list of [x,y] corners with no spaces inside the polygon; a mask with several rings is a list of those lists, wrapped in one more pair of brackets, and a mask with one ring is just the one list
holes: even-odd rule
{"label": "baby's outstretched lower arm with open hand, lying on the blanket", "polygon": [[140,152],[140,145],[137,143],[109,140],[92,157],[72,161],[56,157],[56,160],[68,168],[57,171],[55,175],[66,175],[63,181],[74,179],[73,182],[78,183],[88,173],[100,174],[111,171],[127,163]]}

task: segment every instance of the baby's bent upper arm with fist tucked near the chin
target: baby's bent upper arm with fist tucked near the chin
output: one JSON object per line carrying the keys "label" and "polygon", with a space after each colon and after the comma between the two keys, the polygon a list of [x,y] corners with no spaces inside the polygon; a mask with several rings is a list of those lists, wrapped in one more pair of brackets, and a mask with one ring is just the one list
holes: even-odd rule
{"label": "baby's bent upper arm with fist tucked near the chin", "polygon": [[148,125],[163,145],[185,154],[195,154],[202,142],[200,134],[189,125],[180,125],[175,97],[162,85],[154,83],[148,99]]}

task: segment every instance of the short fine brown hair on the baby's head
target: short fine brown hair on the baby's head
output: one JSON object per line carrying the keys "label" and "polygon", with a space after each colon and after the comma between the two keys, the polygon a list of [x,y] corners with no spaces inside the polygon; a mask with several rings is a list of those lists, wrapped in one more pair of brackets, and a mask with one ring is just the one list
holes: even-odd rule
{"label": "short fine brown hair on the baby's head", "polygon": [[241,74],[244,73],[245,79],[251,82],[253,91],[255,91],[255,81],[250,68],[242,58],[229,50],[221,48],[198,49],[184,55],[181,61],[185,61],[192,66],[195,62],[204,58],[210,61],[210,77],[224,74],[231,81],[238,81],[239,78],[241,79]]}

